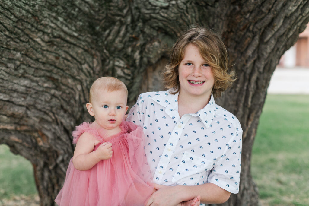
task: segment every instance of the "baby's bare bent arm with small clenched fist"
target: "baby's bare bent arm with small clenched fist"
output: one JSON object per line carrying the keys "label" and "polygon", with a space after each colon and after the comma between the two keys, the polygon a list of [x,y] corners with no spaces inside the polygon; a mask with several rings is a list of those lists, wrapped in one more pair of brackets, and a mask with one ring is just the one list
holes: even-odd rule
{"label": "baby's bare bent arm with small clenched fist", "polygon": [[112,157],[112,143],[104,142],[93,151],[98,143],[99,141],[88,132],[84,132],[78,138],[72,159],[77,170],[89,170],[101,160]]}

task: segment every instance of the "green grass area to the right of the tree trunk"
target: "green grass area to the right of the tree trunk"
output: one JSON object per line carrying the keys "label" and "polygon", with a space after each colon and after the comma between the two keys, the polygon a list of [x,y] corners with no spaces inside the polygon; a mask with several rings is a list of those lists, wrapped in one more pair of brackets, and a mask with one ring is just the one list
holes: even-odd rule
{"label": "green grass area to the right of the tree trunk", "polygon": [[268,95],[252,152],[263,205],[309,205],[309,95]]}

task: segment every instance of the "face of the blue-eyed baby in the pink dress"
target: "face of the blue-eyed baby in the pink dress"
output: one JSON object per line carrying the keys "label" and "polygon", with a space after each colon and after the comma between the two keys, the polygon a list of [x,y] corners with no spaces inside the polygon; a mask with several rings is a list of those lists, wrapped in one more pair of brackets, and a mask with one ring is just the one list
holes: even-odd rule
{"label": "face of the blue-eyed baby in the pink dress", "polygon": [[104,129],[118,128],[128,110],[125,91],[100,89],[96,94],[92,102],[95,121]]}

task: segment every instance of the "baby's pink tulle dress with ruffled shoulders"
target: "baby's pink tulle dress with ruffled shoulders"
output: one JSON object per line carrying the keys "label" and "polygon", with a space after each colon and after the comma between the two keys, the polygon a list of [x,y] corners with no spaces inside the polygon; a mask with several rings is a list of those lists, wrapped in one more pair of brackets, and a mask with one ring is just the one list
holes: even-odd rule
{"label": "baby's pink tulle dress with ruffled shoulders", "polygon": [[144,153],[144,134],[131,122],[123,121],[120,128],[121,132],[112,137],[104,137],[103,129],[88,122],[75,128],[73,143],[83,132],[89,132],[100,141],[94,150],[105,141],[111,142],[113,156],[85,171],[75,169],[71,159],[55,200],[58,205],[144,205],[153,190],[147,184],[153,181]]}

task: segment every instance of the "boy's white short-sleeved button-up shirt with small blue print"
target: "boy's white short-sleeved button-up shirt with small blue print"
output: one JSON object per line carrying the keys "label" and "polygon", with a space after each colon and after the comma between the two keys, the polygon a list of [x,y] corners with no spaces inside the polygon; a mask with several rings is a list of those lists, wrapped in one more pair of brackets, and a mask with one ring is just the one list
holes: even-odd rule
{"label": "boy's white short-sleeved button-up shirt with small blue print", "polygon": [[237,118],[209,103],[195,114],[178,114],[178,94],[146,92],[126,120],[143,128],[145,153],[160,185],[214,183],[238,193],[242,129]]}

